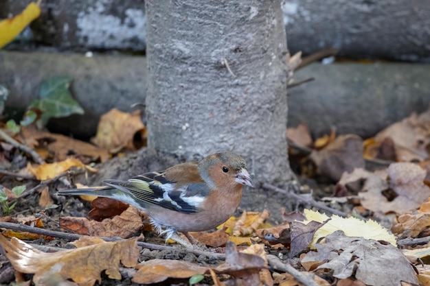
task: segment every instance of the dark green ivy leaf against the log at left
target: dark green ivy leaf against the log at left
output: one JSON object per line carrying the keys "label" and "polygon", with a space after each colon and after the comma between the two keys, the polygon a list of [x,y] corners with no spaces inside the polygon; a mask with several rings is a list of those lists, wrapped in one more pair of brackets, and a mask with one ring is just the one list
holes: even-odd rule
{"label": "dark green ivy leaf against the log at left", "polygon": [[30,108],[43,112],[43,126],[52,117],[67,117],[73,114],[83,114],[82,107],[73,99],[69,87],[72,79],[66,76],[54,76],[41,83],[40,99],[36,99]]}

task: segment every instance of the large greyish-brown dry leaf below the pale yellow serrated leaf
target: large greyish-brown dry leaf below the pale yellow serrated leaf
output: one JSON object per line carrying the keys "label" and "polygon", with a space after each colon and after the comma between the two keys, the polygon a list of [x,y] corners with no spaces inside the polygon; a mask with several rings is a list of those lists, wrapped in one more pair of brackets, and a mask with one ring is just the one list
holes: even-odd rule
{"label": "large greyish-brown dry leaf below the pale yellow serrated leaf", "polygon": [[354,276],[366,285],[400,285],[400,281],[418,284],[414,268],[391,244],[347,237],[339,230],[315,247],[317,252],[308,252],[302,261],[327,261],[317,269],[331,270],[336,278]]}

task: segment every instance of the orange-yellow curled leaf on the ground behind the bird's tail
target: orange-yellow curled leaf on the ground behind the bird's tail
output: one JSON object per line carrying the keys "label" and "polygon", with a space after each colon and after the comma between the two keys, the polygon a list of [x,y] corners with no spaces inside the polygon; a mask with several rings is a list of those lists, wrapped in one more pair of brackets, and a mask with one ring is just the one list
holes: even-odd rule
{"label": "orange-yellow curled leaf on the ground behind the bird's tail", "polygon": [[85,165],[76,158],[67,158],[57,163],[45,163],[35,168],[32,167],[30,163],[27,164],[27,169],[29,169],[38,180],[52,179],[69,170],[71,167],[85,168]]}

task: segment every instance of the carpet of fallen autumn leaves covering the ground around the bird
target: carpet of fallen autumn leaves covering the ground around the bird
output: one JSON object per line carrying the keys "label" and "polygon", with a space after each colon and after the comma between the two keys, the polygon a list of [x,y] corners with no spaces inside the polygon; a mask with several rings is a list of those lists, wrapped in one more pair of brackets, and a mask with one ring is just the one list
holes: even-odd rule
{"label": "carpet of fallen autumn leaves covering the ground around the bird", "polygon": [[[117,114],[115,112],[112,114]],[[106,283],[110,279],[124,281],[124,277],[134,283],[186,285],[185,281],[196,275],[203,275],[203,281],[196,285],[303,285],[300,284],[303,281],[306,281],[305,285],[329,285],[330,279],[337,281],[337,285],[426,285],[430,281],[430,267],[427,264],[430,263],[429,240],[414,243],[414,239],[430,236],[429,114],[430,112],[411,115],[383,130],[374,139],[366,141],[356,135],[337,136],[332,132],[323,139],[312,142],[312,137],[304,126],[295,130],[295,133],[290,133],[295,137],[292,139],[293,143],[301,146],[300,150],[306,151],[305,155],[297,156],[300,157],[298,164],[307,170],[306,175],[324,175],[328,180],[337,182],[331,188],[331,195],[346,198],[334,200],[335,197],[332,197],[333,200],[324,202],[337,204],[330,207],[342,207],[350,215],[359,218],[330,216],[302,208],[292,214],[282,211],[284,221],[273,224],[269,211],[242,211],[241,215],[232,217],[218,230],[192,233],[195,239],[211,251],[184,252],[181,248],[165,246],[161,239],[157,240],[144,212],[135,208],[127,208],[117,202],[95,200],[91,202],[93,210],[88,213],[89,202],[85,200],[59,200],[53,195],[53,184],[62,182],[55,180],[36,188],[34,194],[30,195],[29,198],[35,195],[38,198],[30,211],[34,214],[33,218],[13,213],[12,209],[12,217],[5,217],[4,221],[18,225],[21,219],[32,228],[40,228],[49,233],[53,224],[47,218],[50,214],[58,214],[59,210],[56,208],[63,203],[63,215],[57,217],[63,232],[87,235],[86,239],[73,242],[78,246],[76,249],[47,253],[23,240],[42,239],[49,243],[49,239],[58,241],[55,236],[32,237],[31,232],[1,227],[3,235],[12,239],[8,241],[1,236],[0,243],[14,267],[17,281],[28,281],[20,273],[34,274],[30,278],[41,285],[67,279],[79,285],[93,285],[96,282]],[[136,115],[137,113],[132,116]],[[107,123],[107,126],[115,126],[112,125],[114,121],[115,119]],[[131,128],[127,132],[133,136],[139,132],[144,139],[146,131],[142,126],[137,124],[135,129]],[[7,152],[4,153],[4,158],[6,161],[20,158],[19,174],[31,173],[39,181],[52,180],[70,168],[84,169],[85,176],[89,176],[91,171],[95,171],[89,164],[107,160],[109,156],[121,155],[123,150],[134,150],[138,146],[131,143],[130,136],[123,143],[118,143],[109,139],[106,131],[102,131],[101,134],[106,136],[95,138],[99,138],[99,142],[104,142],[104,145],[100,143],[92,153],[88,152],[91,148],[73,153],[69,151],[80,150],[80,147],[74,149],[73,144],[78,146],[80,143],[61,143],[54,147],[53,143],[67,141],[67,137],[64,136],[63,139],[60,135],[46,131],[41,135],[35,131],[27,132],[30,128],[31,126],[21,126],[19,132],[27,135],[20,142],[32,146],[41,154],[41,150],[45,149],[43,158],[49,160],[49,163],[36,165],[27,156],[14,157],[16,147],[7,145],[8,143],[2,145],[4,152]],[[400,136],[407,128],[409,139]],[[106,127],[100,130],[106,130]],[[302,134],[303,132],[306,134]],[[109,141],[113,145],[108,145]],[[94,142],[97,140],[94,139]],[[51,147],[47,148],[49,145]],[[101,150],[105,150],[105,153],[100,153]],[[299,153],[296,152],[295,156],[297,154]],[[377,163],[379,167],[376,170],[364,169],[364,160]],[[63,178],[69,180],[69,176],[66,174]],[[22,185],[25,187],[24,194],[38,187],[37,183],[35,186],[31,181]],[[302,202],[310,202],[306,201],[306,195],[303,198]],[[25,198],[8,191],[5,206],[10,207],[13,202],[20,200],[24,201]],[[72,208],[76,211],[68,207],[73,204]],[[36,209],[43,213],[34,213]],[[270,211],[278,212],[275,209]],[[64,215],[78,212],[81,217]],[[389,217],[389,222],[381,222],[383,226],[375,222],[381,217]],[[267,222],[268,219],[270,223]],[[40,224],[41,220],[45,224]],[[2,221],[0,219],[0,226]],[[390,228],[394,235],[384,226]],[[146,241],[155,243],[139,244],[136,239],[127,239],[137,237],[142,232],[145,233]],[[104,242],[98,237],[122,237],[126,240]],[[407,239],[412,242],[408,243]],[[64,246],[63,244],[63,248]],[[141,250],[143,252],[139,254]],[[200,255],[193,256],[192,253]],[[223,253],[225,261],[218,256]],[[282,265],[295,265],[298,271],[277,270],[279,268],[273,264],[273,258],[267,258],[268,253],[276,254],[275,259]],[[138,260],[142,262],[137,263]],[[22,263],[23,261],[26,263]],[[77,269],[80,270],[79,273]]]}

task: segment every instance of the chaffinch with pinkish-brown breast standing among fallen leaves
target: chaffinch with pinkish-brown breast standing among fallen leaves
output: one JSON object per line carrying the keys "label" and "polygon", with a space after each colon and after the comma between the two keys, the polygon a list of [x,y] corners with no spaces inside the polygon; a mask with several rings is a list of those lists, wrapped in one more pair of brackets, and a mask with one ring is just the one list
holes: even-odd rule
{"label": "chaffinch with pinkish-brown breast standing among fallen leaves", "polygon": [[113,198],[144,210],[166,241],[191,246],[177,231],[204,231],[223,224],[242,198],[242,185],[252,187],[245,160],[220,152],[200,162],[175,165],[127,181],[104,180],[109,187],[69,189],[58,195],[95,195]]}

